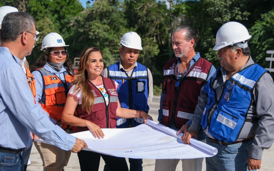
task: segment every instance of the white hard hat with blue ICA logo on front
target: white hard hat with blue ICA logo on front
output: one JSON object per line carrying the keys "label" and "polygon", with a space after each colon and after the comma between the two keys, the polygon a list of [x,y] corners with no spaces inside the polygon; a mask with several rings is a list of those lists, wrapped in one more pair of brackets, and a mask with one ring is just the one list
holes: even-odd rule
{"label": "white hard hat with blue ICA logo on front", "polygon": [[64,39],[60,34],[48,33],[42,40],[41,50],[45,50],[47,48],[52,48],[52,47],[65,47],[65,46],[69,46],[69,45],[65,44]]}

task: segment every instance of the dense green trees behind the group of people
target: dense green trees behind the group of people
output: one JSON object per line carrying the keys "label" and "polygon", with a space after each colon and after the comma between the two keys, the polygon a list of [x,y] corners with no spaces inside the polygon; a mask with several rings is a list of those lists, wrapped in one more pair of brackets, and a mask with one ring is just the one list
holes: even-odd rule
{"label": "dense green trees behind the group of people", "polygon": [[244,24],[252,38],[249,46],[252,58],[263,67],[267,50],[274,50],[273,0],[97,0],[87,1],[84,9],[78,0],[4,0],[0,6],[10,5],[31,14],[41,39],[36,42],[30,64],[42,52],[42,38],[50,33],[62,35],[70,57],[79,57],[88,47],[99,47],[104,53],[105,67],[119,60],[119,41],[128,31],[137,32],[143,51],[138,62],[150,68],[155,93],[160,91],[164,64],[174,56],[171,34],[182,24],[200,30],[196,51],[219,67],[215,45],[216,33],[222,24],[238,21]]}

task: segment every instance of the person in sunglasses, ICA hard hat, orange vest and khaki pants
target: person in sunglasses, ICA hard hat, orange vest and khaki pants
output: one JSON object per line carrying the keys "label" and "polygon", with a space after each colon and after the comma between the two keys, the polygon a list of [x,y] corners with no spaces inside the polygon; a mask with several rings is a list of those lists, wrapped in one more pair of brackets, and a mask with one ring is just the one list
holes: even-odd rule
{"label": "person in sunglasses, ICA hard hat, orange vest and khaki pants", "polygon": [[[62,123],[62,111],[74,69],[66,46],[68,45],[65,45],[60,34],[47,34],[42,40],[41,50],[44,52],[30,70],[35,78],[36,103],[39,103],[49,114],[53,123],[69,132],[70,126]],[[42,158],[44,171],[64,170],[64,167],[67,166],[70,151],[35,141],[34,145]]]}

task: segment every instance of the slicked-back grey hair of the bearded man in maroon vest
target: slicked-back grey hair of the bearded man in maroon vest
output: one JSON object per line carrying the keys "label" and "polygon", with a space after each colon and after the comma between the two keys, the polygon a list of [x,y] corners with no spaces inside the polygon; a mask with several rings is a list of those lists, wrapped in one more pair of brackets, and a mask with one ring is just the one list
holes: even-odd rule
{"label": "slicked-back grey hair of the bearded man in maroon vest", "polygon": [[[185,39],[187,41],[189,41],[190,39],[194,39],[194,45],[193,47],[195,48],[198,41],[199,41],[199,30],[198,29],[194,29],[192,27],[190,27],[189,25],[181,25],[177,28],[175,28],[175,30],[173,31],[173,33],[178,32],[178,31],[185,31]],[[173,34],[172,33],[172,34]]]}

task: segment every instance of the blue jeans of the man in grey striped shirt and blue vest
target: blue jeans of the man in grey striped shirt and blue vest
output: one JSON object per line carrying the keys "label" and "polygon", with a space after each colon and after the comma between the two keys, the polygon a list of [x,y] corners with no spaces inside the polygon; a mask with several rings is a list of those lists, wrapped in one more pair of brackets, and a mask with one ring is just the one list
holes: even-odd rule
{"label": "blue jeans of the man in grey striped shirt and blue vest", "polygon": [[208,140],[206,143],[218,149],[213,157],[206,158],[207,171],[238,171],[247,170],[247,157],[253,140],[231,145],[215,144]]}

